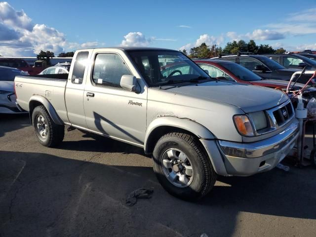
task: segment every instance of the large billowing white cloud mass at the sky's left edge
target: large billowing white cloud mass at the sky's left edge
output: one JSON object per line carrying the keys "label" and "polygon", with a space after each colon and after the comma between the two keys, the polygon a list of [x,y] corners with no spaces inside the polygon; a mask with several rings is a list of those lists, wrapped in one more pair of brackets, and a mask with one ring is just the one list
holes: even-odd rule
{"label": "large billowing white cloud mass at the sky's left edge", "polygon": [[0,2],[0,54],[5,56],[31,56],[40,50],[60,52],[78,48],[104,45],[97,41],[68,42],[65,35],[44,24],[34,24],[21,10],[15,10],[9,3]]}

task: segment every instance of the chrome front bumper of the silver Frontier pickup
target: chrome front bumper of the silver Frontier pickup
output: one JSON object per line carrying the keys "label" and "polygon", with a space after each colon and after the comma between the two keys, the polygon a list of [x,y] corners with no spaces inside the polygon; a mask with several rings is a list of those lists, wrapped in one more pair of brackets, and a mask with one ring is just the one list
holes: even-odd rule
{"label": "chrome front bumper of the silver Frontier pickup", "polygon": [[225,166],[225,171],[222,165],[218,174],[248,176],[273,169],[294,147],[298,132],[298,121],[294,119],[281,133],[258,142],[217,141]]}

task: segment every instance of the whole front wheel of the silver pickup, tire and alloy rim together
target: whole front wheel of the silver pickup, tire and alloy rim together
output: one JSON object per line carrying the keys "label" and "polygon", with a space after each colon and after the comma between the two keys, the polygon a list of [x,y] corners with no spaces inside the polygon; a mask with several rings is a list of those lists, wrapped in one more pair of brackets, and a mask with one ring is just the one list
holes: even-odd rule
{"label": "whole front wheel of the silver pickup, tire and alloy rim together", "polygon": [[154,171],[171,195],[186,200],[204,197],[216,182],[216,173],[197,138],[179,132],[162,136],[154,149]]}

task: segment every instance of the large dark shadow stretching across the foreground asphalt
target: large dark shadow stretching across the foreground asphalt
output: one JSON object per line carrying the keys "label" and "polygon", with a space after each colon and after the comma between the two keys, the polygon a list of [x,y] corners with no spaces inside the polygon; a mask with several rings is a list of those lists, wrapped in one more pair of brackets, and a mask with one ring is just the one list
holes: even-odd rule
{"label": "large dark shadow stretching across the foreground asphalt", "polygon": [[[90,145],[81,149],[89,150]],[[125,150],[121,146],[120,152]],[[240,219],[241,212],[316,219],[311,168],[219,177],[211,193],[196,203],[168,195],[151,167],[105,165],[93,159],[0,151],[0,177],[1,237],[199,237],[202,233],[229,237],[243,221],[249,222],[243,223],[245,228],[271,224],[272,219],[259,215]],[[126,206],[127,195],[140,187],[154,187],[153,197]]]}

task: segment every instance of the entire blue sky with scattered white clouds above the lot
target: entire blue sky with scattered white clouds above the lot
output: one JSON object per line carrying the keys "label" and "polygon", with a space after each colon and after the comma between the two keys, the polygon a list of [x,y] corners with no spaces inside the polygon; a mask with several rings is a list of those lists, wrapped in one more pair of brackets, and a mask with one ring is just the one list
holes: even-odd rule
{"label": "entire blue sky with scattered white clouds above the lot", "polygon": [[118,45],[189,49],[239,39],[316,49],[316,0],[0,2],[6,56]]}

